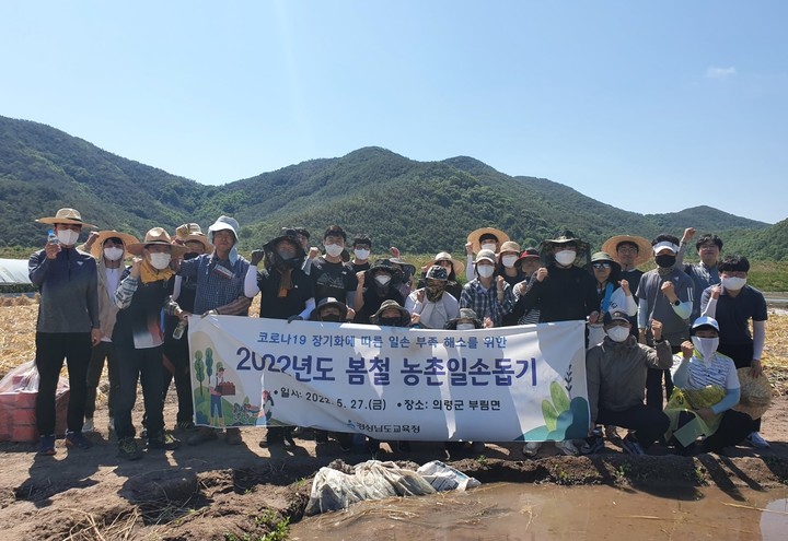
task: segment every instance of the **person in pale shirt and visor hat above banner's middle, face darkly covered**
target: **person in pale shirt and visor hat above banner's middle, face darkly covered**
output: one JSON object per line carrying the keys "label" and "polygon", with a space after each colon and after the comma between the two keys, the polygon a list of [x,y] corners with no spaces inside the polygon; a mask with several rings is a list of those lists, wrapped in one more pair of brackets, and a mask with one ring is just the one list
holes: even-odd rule
{"label": "person in pale shirt and visor hat above banner's middle, face darkly covered", "polygon": [[433,264],[427,271],[425,286],[408,295],[405,309],[418,316],[420,327],[442,329],[450,319],[460,315],[460,303],[447,291],[448,282],[447,269]]}

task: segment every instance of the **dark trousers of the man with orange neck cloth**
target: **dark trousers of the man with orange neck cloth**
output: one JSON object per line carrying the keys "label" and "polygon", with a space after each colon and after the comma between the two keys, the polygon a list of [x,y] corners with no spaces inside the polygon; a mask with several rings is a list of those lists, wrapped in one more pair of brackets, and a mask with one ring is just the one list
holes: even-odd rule
{"label": "dark trousers of the man with orange neck cloth", "polygon": [[131,410],[137,401],[137,381],[142,385],[146,428],[148,437],[157,437],[164,430],[164,400],[162,389],[162,348],[115,346],[119,388],[115,401],[115,433],[118,439],[134,437]]}

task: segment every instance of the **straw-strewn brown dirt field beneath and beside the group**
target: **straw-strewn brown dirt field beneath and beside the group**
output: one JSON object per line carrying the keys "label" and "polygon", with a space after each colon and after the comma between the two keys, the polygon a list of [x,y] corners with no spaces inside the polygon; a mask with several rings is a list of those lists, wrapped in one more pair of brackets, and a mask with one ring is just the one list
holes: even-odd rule
{"label": "straw-strewn brown dirt field beneath and beside the group", "polygon": [[[3,358],[30,354],[31,318],[35,306],[2,306]],[[772,325],[774,324],[774,325]],[[376,458],[412,463],[448,460],[485,482],[613,484],[639,491],[716,485],[735,493],[742,487],[768,490],[788,484],[788,396],[786,396],[785,329],[788,317],[770,321],[766,367],[775,388],[764,415],[763,435],[773,443],[765,451],[739,447],[729,456],[694,458],[656,449],[654,456],[630,457],[607,444],[592,458],[555,456],[551,444],[536,459],[525,459],[521,446],[488,445],[483,455],[470,450],[447,457],[439,444],[415,443],[412,452],[385,452]],[[26,360],[21,356],[20,358]],[[16,361],[19,362],[19,361]],[[3,366],[2,373],[8,371]],[[174,398],[174,392],[171,392]],[[135,420],[139,423],[141,408]],[[175,404],[165,409],[167,426]],[[88,450],[69,450],[58,440],[55,457],[37,457],[32,444],[0,444],[0,520],[4,539],[283,539],[282,519],[301,519],[311,477],[335,459],[357,463],[372,458],[346,454],[332,440],[315,445],[297,439],[292,451],[263,448],[264,430],[245,430],[243,445],[222,440],[175,451],[147,451],[138,461],[116,457],[108,440],[106,407],[96,412],[100,432]],[[185,438],[185,434],[176,435]],[[269,537],[265,537],[270,533]]]}

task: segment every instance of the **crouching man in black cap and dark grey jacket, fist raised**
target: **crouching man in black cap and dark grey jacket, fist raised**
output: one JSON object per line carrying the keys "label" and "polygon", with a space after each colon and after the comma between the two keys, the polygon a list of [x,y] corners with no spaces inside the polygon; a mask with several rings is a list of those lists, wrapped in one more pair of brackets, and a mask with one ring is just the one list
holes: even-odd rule
{"label": "crouching man in black cap and dark grey jacket, fist raised", "polygon": [[605,338],[586,354],[592,435],[583,454],[602,450],[601,437],[593,435],[598,424],[627,428],[622,446],[630,455],[642,455],[668,428],[668,415],[644,403],[649,368],[668,369],[673,364],[662,324],[651,322],[653,348],[638,343],[630,330],[625,313],[605,314]]}

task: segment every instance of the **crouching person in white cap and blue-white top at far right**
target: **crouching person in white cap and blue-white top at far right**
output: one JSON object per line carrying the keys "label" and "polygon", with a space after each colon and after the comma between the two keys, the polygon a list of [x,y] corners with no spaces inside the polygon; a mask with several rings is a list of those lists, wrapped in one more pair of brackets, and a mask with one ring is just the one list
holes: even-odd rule
{"label": "crouching person in white cap and blue-white top at far right", "polygon": [[731,409],[739,403],[741,386],[733,361],[717,352],[717,320],[697,318],[690,337],[681,345],[682,361],[673,374],[676,390],[665,407],[671,421],[665,439],[677,452],[693,455],[695,440],[705,436],[700,450],[719,454],[750,434],[752,417]]}

